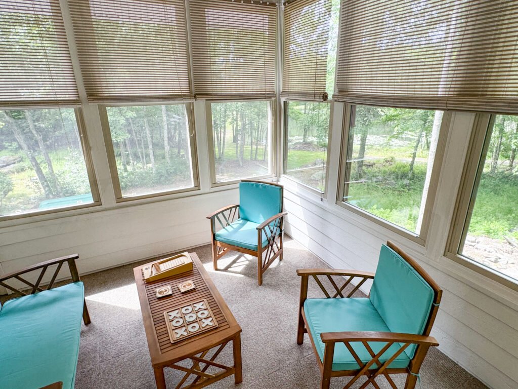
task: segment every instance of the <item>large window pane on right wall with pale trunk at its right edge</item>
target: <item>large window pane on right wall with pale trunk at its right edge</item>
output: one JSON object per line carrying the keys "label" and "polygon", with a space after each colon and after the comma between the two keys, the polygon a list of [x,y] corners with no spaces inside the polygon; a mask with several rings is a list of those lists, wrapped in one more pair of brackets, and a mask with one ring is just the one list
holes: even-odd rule
{"label": "large window pane on right wall with pale trunk at its right edge", "polygon": [[343,203],[420,235],[442,112],[353,106]]}

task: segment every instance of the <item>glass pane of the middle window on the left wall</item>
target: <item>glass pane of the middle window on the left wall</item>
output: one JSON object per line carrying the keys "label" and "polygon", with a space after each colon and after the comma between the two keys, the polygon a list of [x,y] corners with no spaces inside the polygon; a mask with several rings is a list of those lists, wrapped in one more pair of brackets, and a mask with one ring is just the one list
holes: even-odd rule
{"label": "glass pane of the middle window on the left wall", "polygon": [[191,106],[106,107],[119,200],[197,187]]}

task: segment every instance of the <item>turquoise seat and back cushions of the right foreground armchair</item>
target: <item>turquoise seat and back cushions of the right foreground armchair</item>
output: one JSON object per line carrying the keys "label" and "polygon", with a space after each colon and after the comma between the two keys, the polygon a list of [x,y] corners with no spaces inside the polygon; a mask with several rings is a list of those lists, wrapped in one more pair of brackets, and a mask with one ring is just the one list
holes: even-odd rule
{"label": "turquoise seat and back cushions of the right foreground armchair", "polygon": [[[322,332],[380,331],[422,335],[434,301],[434,289],[393,249],[382,245],[376,275],[369,298],[307,299],[304,313],[308,331],[314,340],[320,359],[324,360]],[[385,343],[372,342],[375,353]],[[371,357],[361,343],[353,346],[362,362]],[[384,362],[397,351],[392,345],[381,358]],[[390,364],[390,368],[405,368],[415,353],[410,345]],[[376,366],[372,366],[376,368]],[[343,343],[337,343],[332,370],[359,369],[352,354]]]}

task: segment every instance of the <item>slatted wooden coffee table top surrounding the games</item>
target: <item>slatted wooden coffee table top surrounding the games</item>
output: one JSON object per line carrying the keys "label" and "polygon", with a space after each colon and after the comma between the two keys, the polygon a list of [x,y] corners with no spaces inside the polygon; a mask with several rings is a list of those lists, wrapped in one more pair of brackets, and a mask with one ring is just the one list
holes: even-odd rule
{"label": "slatted wooden coffee table top surrounding the games", "polygon": [[[200,273],[198,269],[199,266],[201,266],[203,269],[202,263],[199,261],[195,253],[189,253],[189,255],[193,260],[193,270],[186,271],[184,273],[173,275],[154,282],[145,283],[141,281],[141,268],[137,268],[138,273],[136,274],[138,274],[138,277],[137,275],[135,276],[135,280],[137,282],[137,289],[145,289],[149,309],[151,311],[151,319],[153,322],[152,327],[154,329],[155,336],[158,341],[157,345],[161,354],[174,351],[178,348],[179,345],[183,345],[184,343],[189,342],[195,342],[200,338],[211,336],[217,337],[220,331],[227,330],[230,327],[226,317],[223,315],[223,312],[221,311],[218,302],[214,299],[214,296],[212,295],[210,288],[207,286],[207,283],[205,282],[203,275]],[[203,272],[208,277],[207,271],[205,269],[203,269]],[[140,278],[140,280],[138,280],[138,278]],[[180,293],[180,290],[178,289],[177,285],[189,280],[194,282],[196,289],[190,290],[183,294]],[[172,295],[157,299],[155,292],[156,288],[166,285],[171,285]],[[167,323],[164,317],[164,312],[170,311],[171,309],[174,309],[178,306],[183,307],[184,305],[204,299],[207,300],[209,308],[212,311],[212,315],[214,316],[215,321],[218,323],[218,327],[213,329],[212,331],[202,332],[201,334],[199,334],[199,336],[185,338],[184,341],[171,343]],[[147,330],[150,330],[151,328],[149,328],[149,326],[146,323],[147,322],[145,321],[145,327],[147,328]]]}

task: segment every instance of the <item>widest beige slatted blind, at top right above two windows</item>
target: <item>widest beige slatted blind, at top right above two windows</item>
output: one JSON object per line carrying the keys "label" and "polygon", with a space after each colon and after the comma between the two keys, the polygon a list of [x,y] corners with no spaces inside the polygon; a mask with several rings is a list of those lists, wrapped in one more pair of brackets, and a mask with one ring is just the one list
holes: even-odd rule
{"label": "widest beige slatted blind, at top right above two windows", "polygon": [[518,113],[518,2],[342,2],[333,99]]}

